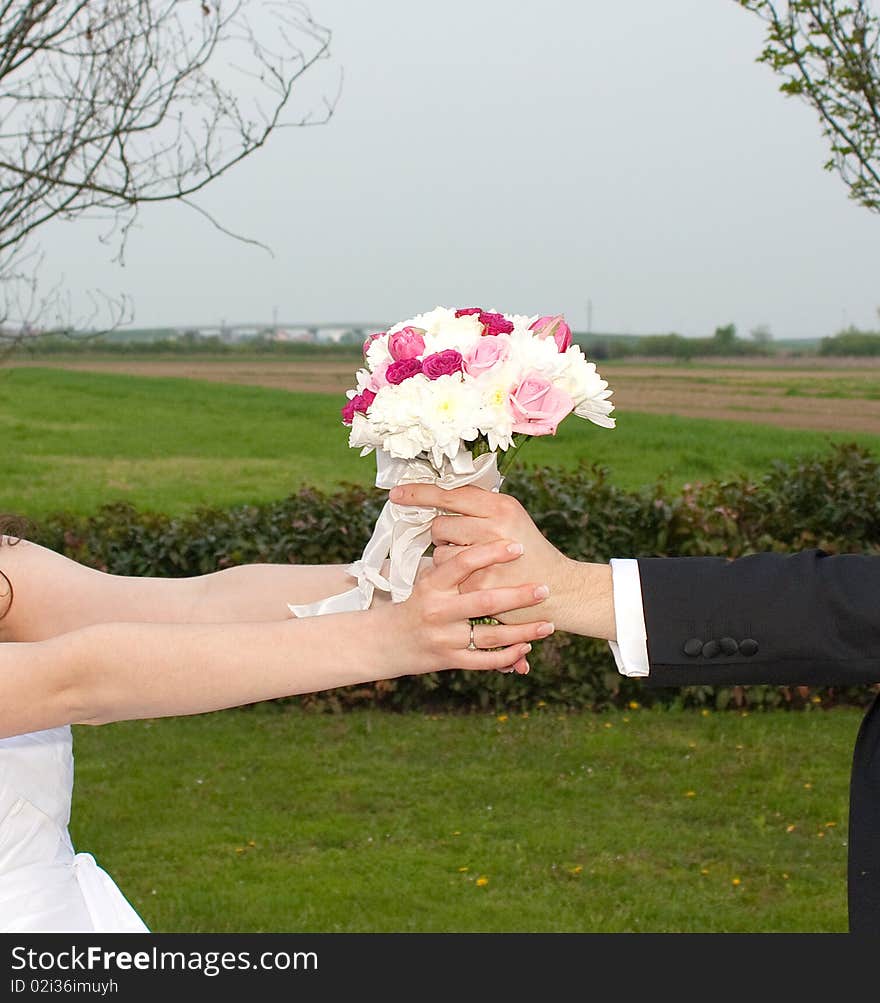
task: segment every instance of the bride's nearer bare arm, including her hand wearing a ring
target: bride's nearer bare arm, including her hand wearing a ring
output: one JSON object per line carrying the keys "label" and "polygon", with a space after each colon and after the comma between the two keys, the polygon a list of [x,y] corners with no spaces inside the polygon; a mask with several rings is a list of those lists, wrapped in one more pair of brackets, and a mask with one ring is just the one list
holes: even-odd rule
{"label": "bride's nearer bare arm, including her hand wearing a ring", "polygon": [[363,613],[240,624],[103,623],[0,645],[0,736],[66,723],[195,714],[445,668],[528,671],[536,621],[479,626],[469,617],[537,606],[537,584],[459,593],[481,568],[515,561],[506,541],[469,548],[423,574],[412,596]]}

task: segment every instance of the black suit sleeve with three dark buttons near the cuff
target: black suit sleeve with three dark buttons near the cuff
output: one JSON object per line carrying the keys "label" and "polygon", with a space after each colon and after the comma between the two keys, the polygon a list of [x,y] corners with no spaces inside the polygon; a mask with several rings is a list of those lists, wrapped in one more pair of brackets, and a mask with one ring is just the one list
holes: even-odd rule
{"label": "black suit sleeve with three dark buttons near the cuff", "polygon": [[880,681],[880,558],[638,562],[650,686]]}

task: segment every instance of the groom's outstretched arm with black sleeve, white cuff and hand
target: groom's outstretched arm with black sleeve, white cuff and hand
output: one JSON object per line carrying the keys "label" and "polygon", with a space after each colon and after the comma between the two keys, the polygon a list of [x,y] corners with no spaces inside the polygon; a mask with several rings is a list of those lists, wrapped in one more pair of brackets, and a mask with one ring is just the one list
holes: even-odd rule
{"label": "groom's outstretched arm with black sleeve, white cuff and hand", "polygon": [[464,587],[501,584],[508,574],[546,581],[544,615],[558,629],[607,639],[620,671],[650,685],[880,680],[880,558],[814,550],[609,568],[564,557],[510,496],[420,484],[397,490],[398,504],[457,514],[434,521],[438,561],[501,535],[522,541],[525,553],[509,569]]}

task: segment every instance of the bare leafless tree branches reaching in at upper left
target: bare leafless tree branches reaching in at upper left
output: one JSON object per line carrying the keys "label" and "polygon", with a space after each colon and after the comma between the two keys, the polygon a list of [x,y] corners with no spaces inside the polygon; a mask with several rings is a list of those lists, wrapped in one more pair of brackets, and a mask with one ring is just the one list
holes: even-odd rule
{"label": "bare leafless tree branches reaching in at upper left", "polygon": [[32,247],[50,221],[107,220],[119,258],[153,203],[183,203],[223,230],[193,197],[277,128],[329,118],[332,101],[285,119],[329,42],[291,2],[0,2],[0,344],[55,309]]}

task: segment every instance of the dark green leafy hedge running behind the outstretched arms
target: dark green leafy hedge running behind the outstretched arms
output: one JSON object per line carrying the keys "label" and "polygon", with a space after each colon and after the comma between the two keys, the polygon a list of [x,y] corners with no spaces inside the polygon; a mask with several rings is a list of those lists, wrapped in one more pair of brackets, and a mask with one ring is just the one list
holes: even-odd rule
{"label": "dark green leafy hedge running behind the outstretched arms", "polygon": [[[880,461],[858,445],[777,463],[760,480],[685,485],[662,483],[641,491],[612,484],[598,466],[574,471],[515,472],[507,489],[529,510],[543,533],[582,561],[612,557],[794,552],[880,554]],[[182,577],[246,563],[347,563],[360,554],[384,495],[348,486],[334,493],[304,489],[279,501],[231,510],[203,509],[183,518],[110,505],[90,517],[57,515],[31,538],[82,564],[117,575]],[[647,691],[621,677],[603,642],[555,635],[536,646],[527,677],[448,672],[337,689],[301,698],[343,708],[373,702],[387,707],[480,707],[526,710],[539,701],[600,709],[629,701],[687,706],[813,706],[818,697],[864,703],[869,693],[687,687]]]}

